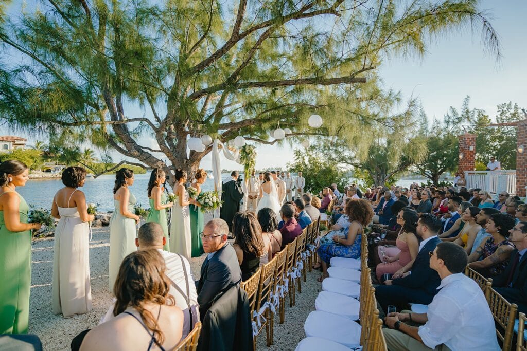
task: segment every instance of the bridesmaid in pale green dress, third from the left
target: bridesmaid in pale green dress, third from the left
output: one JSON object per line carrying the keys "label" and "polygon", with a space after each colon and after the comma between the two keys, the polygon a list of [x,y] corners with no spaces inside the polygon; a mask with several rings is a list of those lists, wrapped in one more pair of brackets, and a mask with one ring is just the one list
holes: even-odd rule
{"label": "bridesmaid in pale green dress, third from the left", "polygon": [[137,200],[128,189],[133,182],[134,175],[131,169],[121,168],[115,173],[115,186],[113,187],[115,210],[110,219],[110,260],[108,264],[109,287],[112,293],[121,262],[124,257],[137,250],[135,226],[140,217],[134,213],[133,206]]}

